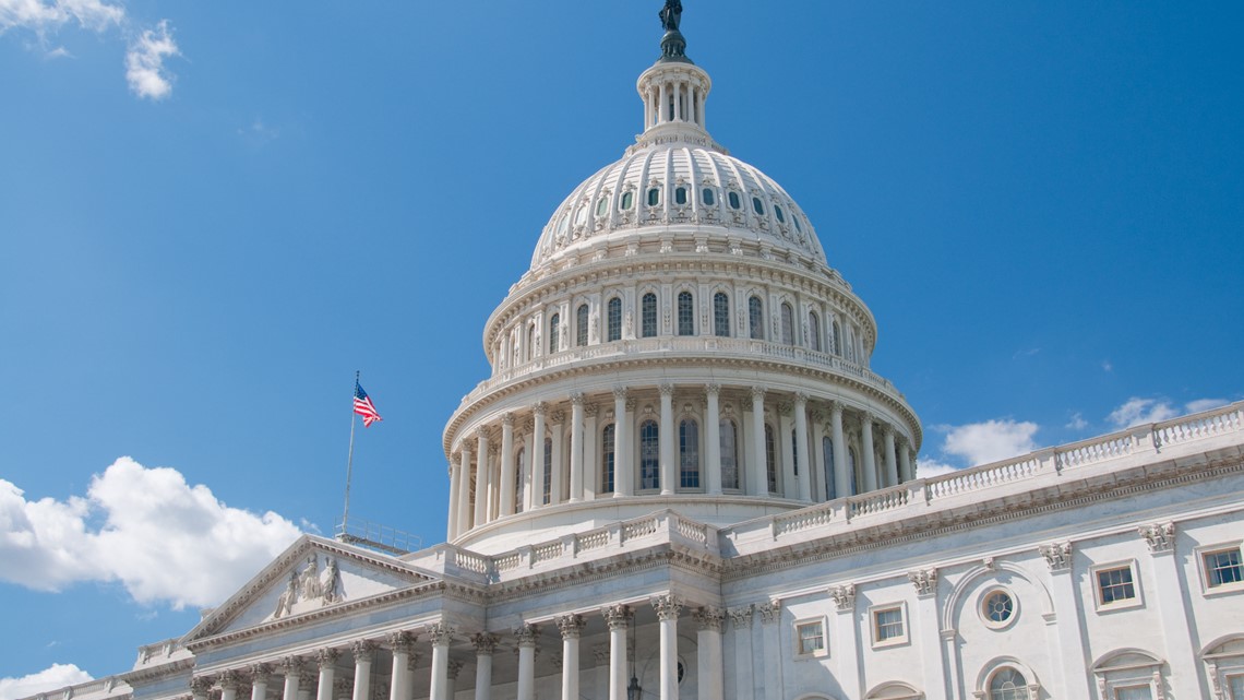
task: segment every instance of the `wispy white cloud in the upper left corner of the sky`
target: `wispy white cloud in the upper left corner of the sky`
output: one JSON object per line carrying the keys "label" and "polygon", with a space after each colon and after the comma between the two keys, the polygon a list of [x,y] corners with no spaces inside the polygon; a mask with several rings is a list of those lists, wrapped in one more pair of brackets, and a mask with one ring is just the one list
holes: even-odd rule
{"label": "wispy white cloud in the upper left corner of the sky", "polygon": [[103,34],[119,29],[128,37],[126,82],[138,97],[163,100],[173,90],[164,60],[179,56],[168,20],[154,29],[136,29],[121,4],[108,0],[0,0],[0,34],[20,29],[35,35],[47,57],[71,56],[65,46],[49,47],[49,37],[66,25]]}

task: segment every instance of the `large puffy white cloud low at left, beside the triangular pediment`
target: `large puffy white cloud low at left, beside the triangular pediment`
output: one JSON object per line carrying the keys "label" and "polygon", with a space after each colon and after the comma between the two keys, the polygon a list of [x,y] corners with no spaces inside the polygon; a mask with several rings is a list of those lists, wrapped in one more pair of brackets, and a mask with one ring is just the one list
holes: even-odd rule
{"label": "large puffy white cloud low at left, beside the triangular pediment", "polygon": [[231,508],[177,470],[129,457],[66,501],[27,501],[0,480],[0,580],[37,590],[119,582],[143,604],[215,605],[299,534],[271,511]]}

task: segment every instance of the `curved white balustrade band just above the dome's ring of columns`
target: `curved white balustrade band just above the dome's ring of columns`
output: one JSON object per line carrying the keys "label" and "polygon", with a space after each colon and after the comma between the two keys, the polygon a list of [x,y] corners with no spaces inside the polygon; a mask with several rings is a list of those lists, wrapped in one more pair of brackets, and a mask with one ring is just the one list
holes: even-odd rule
{"label": "curved white balustrade band just above the dome's ring of columns", "polygon": [[612,343],[571,348],[551,355],[541,355],[529,362],[498,371],[490,379],[479,382],[470,394],[463,396],[462,402],[469,404],[513,381],[565,365],[596,360],[598,357],[627,357],[653,352],[723,354],[776,359],[829,370],[835,374],[857,379],[870,386],[875,386],[887,392],[898,394],[894,385],[886,377],[837,355],[817,352],[797,345],[782,345],[780,343],[769,343],[765,340],[694,335],[616,340]]}

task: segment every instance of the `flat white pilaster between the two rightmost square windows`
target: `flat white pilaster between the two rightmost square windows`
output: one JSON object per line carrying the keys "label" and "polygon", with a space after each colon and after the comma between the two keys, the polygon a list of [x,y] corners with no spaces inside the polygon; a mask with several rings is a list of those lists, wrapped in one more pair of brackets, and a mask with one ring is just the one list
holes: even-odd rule
{"label": "flat white pilaster between the two rightmost square windows", "polygon": [[[1186,620],[1192,619],[1192,612],[1186,608],[1187,579],[1181,575],[1179,559],[1176,557],[1174,523],[1154,523],[1141,526],[1140,536],[1149,546],[1153,557],[1153,579],[1162,595],[1152,599],[1158,608],[1162,624],[1162,636],[1166,641],[1167,663],[1171,664],[1171,695],[1174,698],[1203,698],[1203,690],[1195,669],[1197,649],[1192,644],[1191,630]],[[1193,553],[1193,557],[1197,554]]]}

